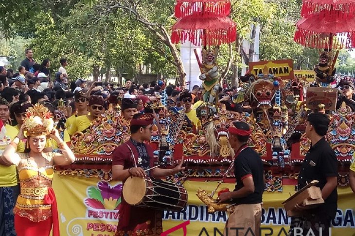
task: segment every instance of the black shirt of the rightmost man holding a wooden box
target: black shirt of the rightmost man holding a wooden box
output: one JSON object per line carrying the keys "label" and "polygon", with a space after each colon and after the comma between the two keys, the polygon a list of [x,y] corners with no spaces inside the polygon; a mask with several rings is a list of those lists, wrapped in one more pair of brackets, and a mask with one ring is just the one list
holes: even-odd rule
{"label": "black shirt of the rightmost man holding a wooden box", "polygon": [[[323,137],[311,146],[304,158],[298,177],[298,188],[303,188],[312,180],[318,180],[317,187],[323,189],[327,183],[326,178],[332,176],[337,176],[337,157]],[[320,204],[311,211],[317,214],[327,214],[334,218],[337,213],[337,188],[325,199],[324,204]]]}

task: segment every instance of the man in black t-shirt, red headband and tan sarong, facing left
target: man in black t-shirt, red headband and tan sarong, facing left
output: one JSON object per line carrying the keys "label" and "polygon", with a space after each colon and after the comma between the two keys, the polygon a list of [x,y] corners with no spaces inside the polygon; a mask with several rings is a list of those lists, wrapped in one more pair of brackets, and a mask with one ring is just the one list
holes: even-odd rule
{"label": "man in black t-shirt, red headband and tan sarong, facing left", "polygon": [[228,130],[229,142],[236,152],[234,156],[236,186],[234,191],[223,192],[218,197],[220,203],[234,204],[224,235],[259,236],[265,187],[263,162],[260,156],[248,147],[247,142],[251,134],[248,124],[238,121],[232,124]]}

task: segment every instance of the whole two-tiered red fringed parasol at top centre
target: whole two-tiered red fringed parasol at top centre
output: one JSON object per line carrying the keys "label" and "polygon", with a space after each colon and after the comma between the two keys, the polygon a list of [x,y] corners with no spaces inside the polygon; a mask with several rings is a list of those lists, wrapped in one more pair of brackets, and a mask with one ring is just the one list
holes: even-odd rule
{"label": "whole two-tiered red fringed parasol at top centre", "polygon": [[177,0],[171,40],[196,46],[229,44],[236,39],[236,23],[228,16],[230,0]]}

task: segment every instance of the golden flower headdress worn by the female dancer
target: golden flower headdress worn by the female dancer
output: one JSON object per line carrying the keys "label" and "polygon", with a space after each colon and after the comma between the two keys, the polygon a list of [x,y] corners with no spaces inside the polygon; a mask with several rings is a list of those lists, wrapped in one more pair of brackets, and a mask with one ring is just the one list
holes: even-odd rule
{"label": "golden flower headdress worn by the female dancer", "polygon": [[52,113],[48,108],[37,103],[27,109],[24,126],[26,136],[49,135],[54,128]]}

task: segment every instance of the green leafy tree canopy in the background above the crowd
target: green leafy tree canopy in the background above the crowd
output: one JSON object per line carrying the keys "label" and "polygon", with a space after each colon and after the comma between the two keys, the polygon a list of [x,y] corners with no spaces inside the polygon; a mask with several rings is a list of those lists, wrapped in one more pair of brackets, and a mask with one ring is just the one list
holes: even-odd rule
{"label": "green leafy tree canopy in the background above the crowd", "polygon": [[[18,8],[8,13],[8,7]],[[318,51],[293,41],[294,24],[300,16],[300,0],[231,0],[231,18],[237,23],[238,40],[232,47],[222,45],[218,58],[228,78],[248,55],[243,40],[253,44],[254,26],[260,25],[261,60],[294,60],[298,69],[311,69],[318,62]],[[17,67],[24,48],[32,46],[37,62],[49,58],[52,70],[59,59],[69,60],[71,79],[107,73],[130,78],[149,65],[163,77],[184,77],[179,45],[170,40],[174,0],[3,0],[0,2],[0,54],[12,56]],[[251,27],[250,27],[251,26]],[[338,71],[352,71],[354,59],[339,55]]]}

